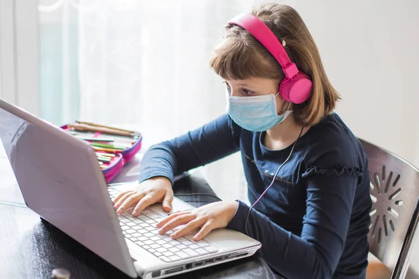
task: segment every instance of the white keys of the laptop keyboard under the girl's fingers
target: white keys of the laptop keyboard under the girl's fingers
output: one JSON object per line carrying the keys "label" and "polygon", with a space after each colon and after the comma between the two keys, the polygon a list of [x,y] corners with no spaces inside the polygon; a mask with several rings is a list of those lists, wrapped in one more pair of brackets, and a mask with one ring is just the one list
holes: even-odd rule
{"label": "white keys of the laptop keyboard under the girl's fingers", "polygon": [[[110,197],[118,195],[117,190],[108,189]],[[172,230],[166,234],[159,234],[156,223],[163,219],[159,214],[144,210],[138,217],[131,215],[133,207],[118,216],[122,233],[126,239],[151,252],[164,262],[175,262],[190,257],[198,257],[218,252],[218,248],[207,241],[193,241],[193,234],[170,238]]]}

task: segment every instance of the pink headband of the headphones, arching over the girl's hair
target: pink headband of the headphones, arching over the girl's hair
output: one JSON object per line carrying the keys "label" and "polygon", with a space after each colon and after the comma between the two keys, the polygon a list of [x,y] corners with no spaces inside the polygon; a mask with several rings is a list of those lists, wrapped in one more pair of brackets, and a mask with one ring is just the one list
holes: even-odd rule
{"label": "pink headband of the headphones, arching over the girl's hair", "polygon": [[277,36],[258,17],[249,13],[242,13],[233,17],[228,24],[238,25],[251,33],[277,59],[287,78],[291,78],[298,73],[297,66],[291,62]]}

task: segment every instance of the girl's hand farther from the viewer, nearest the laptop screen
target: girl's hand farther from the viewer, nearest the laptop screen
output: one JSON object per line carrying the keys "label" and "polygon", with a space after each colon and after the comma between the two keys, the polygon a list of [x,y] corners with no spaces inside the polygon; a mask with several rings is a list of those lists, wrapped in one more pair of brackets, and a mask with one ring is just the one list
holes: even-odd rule
{"label": "girl's hand farther from the viewer, nearest the laptop screen", "polygon": [[142,181],[133,190],[119,194],[114,199],[117,214],[122,214],[134,204],[132,215],[138,216],[150,204],[162,202],[163,210],[169,212],[172,207],[173,190],[170,180],[163,176],[156,176]]}

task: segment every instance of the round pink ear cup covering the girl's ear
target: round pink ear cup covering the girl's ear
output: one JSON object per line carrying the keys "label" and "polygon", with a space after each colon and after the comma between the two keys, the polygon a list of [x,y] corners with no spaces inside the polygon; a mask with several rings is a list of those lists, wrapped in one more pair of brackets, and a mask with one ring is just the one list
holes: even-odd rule
{"label": "round pink ear cup covering the girl's ear", "polygon": [[307,75],[297,73],[292,78],[284,77],[279,84],[279,95],[294,104],[304,103],[313,91],[313,84]]}

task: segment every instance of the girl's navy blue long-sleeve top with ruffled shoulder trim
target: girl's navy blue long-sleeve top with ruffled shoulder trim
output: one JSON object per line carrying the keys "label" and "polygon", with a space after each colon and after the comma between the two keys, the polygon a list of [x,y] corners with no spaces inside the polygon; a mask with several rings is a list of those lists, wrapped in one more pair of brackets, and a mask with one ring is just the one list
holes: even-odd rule
{"label": "girl's navy blue long-sleeve top with ruffled shoulder trim", "polygon": [[[173,176],[240,151],[249,201],[270,185],[286,149],[263,145],[265,133],[244,130],[227,114],[173,140],[152,146],[140,181]],[[337,114],[312,126],[295,144],[272,187],[253,207],[249,236],[262,243],[265,262],[286,278],[365,278],[369,210],[367,157]],[[239,201],[231,229],[246,233],[249,206]]]}

